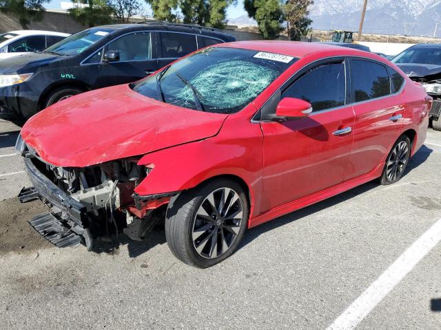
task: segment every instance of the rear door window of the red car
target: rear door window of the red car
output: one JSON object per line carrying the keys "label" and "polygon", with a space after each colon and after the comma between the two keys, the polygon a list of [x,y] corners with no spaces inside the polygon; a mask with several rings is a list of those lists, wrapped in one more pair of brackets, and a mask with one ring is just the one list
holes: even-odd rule
{"label": "rear door window of the red car", "polygon": [[384,65],[353,60],[351,63],[355,101],[365,101],[391,94],[389,73]]}

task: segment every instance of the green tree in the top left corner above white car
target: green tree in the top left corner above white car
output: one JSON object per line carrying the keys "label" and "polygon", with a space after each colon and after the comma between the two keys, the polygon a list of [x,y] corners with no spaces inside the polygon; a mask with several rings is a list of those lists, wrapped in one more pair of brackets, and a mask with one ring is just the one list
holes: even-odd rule
{"label": "green tree in the top left corner above white car", "polygon": [[43,19],[43,3],[49,2],[50,0],[0,0],[0,12],[17,17],[21,27],[27,29],[30,22]]}

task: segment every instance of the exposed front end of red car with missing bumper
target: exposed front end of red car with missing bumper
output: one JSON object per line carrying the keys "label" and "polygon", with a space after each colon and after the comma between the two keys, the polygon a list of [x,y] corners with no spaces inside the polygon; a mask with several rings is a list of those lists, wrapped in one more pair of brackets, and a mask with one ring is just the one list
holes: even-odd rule
{"label": "exposed front end of red car with missing bumper", "polygon": [[21,148],[34,187],[23,189],[19,199],[39,198],[50,207],[48,214],[41,214],[30,224],[57,246],[84,243],[92,250],[97,238],[118,239],[121,232],[142,240],[165,217],[170,197],[146,201],[134,193],[151,170],[136,164],[136,157],[64,168],[43,162],[28,146]]}

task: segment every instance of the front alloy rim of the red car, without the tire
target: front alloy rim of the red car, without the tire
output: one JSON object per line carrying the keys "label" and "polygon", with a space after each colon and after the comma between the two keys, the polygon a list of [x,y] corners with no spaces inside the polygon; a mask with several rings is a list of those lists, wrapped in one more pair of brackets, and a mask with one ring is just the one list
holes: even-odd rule
{"label": "front alloy rim of the red car, without the tire", "polygon": [[209,193],[199,206],[192,226],[196,252],[214,259],[229,250],[239,234],[243,221],[243,201],[231,188]]}

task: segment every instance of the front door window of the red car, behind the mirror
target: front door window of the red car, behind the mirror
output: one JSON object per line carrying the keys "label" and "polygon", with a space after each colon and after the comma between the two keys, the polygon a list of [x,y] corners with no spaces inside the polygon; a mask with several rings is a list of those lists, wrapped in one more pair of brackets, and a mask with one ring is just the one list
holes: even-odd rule
{"label": "front door window of the red car, behind the mirror", "polygon": [[311,103],[313,111],[345,105],[345,65],[327,63],[309,69],[283,92],[282,98],[305,100]]}

